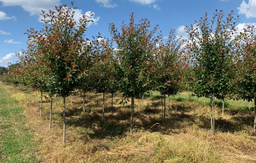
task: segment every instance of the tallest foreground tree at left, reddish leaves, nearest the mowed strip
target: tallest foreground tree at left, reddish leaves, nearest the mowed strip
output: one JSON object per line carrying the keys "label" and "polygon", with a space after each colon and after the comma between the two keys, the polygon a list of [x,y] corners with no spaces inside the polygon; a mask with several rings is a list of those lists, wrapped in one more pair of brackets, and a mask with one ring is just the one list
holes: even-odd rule
{"label": "tallest foreground tree at left, reddish leaves, nearest the mowed strip", "polygon": [[[73,2],[72,2],[73,5]],[[83,15],[79,22],[74,20],[76,8],[66,5],[56,7],[56,11],[43,11],[45,26],[37,32],[28,30],[29,41],[37,45],[37,52],[42,55],[47,68],[49,81],[47,87],[51,92],[63,97],[63,142],[65,142],[65,97],[76,88],[83,71],[79,69],[82,43],[90,17]],[[82,60],[83,61],[83,60]]]}

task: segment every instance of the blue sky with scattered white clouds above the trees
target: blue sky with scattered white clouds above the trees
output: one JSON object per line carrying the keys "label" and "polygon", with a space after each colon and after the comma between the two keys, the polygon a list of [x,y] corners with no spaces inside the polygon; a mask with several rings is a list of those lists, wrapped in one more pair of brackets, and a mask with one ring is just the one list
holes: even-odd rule
{"label": "blue sky with scattered white clouds above the trees", "polygon": [[[72,7],[72,0],[0,0],[0,67],[16,63],[15,55],[27,48],[27,29],[40,31],[44,28],[42,10],[54,10],[55,6],[66,4]],[[211,18],[215,10],[223,10],[228,15],[231,10],[239,16],[238,28],[256,25],[256,0],[73,0],[77,7],[76,17],[92,12],[93,23],[85,32],[87,38],[97,36],[111,38],[109,24],[114,23],[120,29],[123,21],[129,23],[131,13],[135,22],[147,18],[152,29],[158,25],[168,37],[171,29],[177,35],[187,37],[185,26],[190,26],[200,17]]]}

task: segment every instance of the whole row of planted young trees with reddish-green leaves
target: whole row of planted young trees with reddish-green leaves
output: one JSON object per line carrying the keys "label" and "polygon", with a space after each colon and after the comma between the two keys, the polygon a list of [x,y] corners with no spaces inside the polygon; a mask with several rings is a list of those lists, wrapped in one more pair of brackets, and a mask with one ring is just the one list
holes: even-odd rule
{"label": "whole row of planted young trees with reddish-green leaves", "polygon": [[134,97],[151,90],[169,96],[187,89],[210,98],[213,135],[214,97],[223,102],[256,99],[255,28],[237,33],[239,19],[233,11],[226,16],[216,10],[212,18],[205,14],[186,26],[188,40],[173,29],[165,39],[147,19],[136,24],[133,13],[120,29],[110,23],[111,38],[99,34],[91,40],[85,38],[91,17],[76,22],[73,9],[62,5],[43,11],[44,27],[27,30],[27,49],[17,54],[19,62],[1,80],[33,87],[51,98],[61,96],[64,103],[74,90],[121,92],[123,103],[131,98],[131,132]]}

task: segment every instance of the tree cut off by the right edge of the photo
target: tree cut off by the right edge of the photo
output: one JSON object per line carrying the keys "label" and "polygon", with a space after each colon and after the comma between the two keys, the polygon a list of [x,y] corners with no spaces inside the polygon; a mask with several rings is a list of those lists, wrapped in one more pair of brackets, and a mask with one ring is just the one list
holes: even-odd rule
{"label": "tree cut off by the right edge of the photo", "polygon": [[241,34],[238,76],[236,79],[237,99],[254,100],[254,132],[256,132],[256,34],[255,26],[247,26]]}

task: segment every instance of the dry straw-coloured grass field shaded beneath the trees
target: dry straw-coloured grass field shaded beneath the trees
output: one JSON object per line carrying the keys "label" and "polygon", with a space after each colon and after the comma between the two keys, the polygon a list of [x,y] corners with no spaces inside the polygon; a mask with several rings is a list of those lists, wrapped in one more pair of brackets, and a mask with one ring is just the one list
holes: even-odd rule
{"label": "dry straw-coloured grass field shaded beneath the trees", "polygon": [[[189,93],[170,97],[163,121],[160,95],[146,94],[144,102],[141,97],[135,99],[134,132],[130,134],[129,102],[119,104],[121,94],[115,94],[113,108],[111,96],[106,95],[104,120],[102,94],[86,94],[85,112],[82,95],[73,94],[66,98],[63,144],[60,97],[54,100],[49,129],[50,103],[44,98],[40,118],[40,93],[29,91],[26,101],[24,90],[1,85],[24,109],[22,125],[37,144],[31,148],[36,163],[256,163],[254,112],[248,113],[248,102],[227,100],[221,114],[222,103],[216,101],[216,135],[212,136],[209,99]],[[253,111],[254,103],[250,106]]]}

